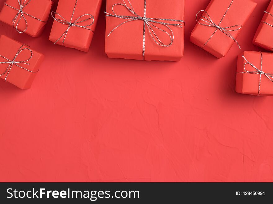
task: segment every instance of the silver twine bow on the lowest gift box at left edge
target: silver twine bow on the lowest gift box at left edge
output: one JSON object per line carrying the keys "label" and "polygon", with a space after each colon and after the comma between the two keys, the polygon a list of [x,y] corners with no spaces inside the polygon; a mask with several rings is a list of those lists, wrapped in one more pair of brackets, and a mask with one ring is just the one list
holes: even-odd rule
{"label": "silver twine bow on the lowest gift box at left edge", "polygon": [[[26,63],[26,62],[29,61],[29,60],[32,58],[32,56],[33,56],[32,50],[29,49],[29,48],[23,48],[23,49],[22,49],[23,46],[25,46],[25,45],[22,45],[22,46],[19,48],[19,50],[18,50],[18,52],[16,53],[15,57],[13,58],[13,60],[10,60],[10,59],[8,59],[7,57],[4,57],[4,56],[0,55],[0,57],[2,57],[2,58],[4,58],[4,59],[7,60],[7,61],[4,61],[4,62],[0,62],[0,64],[9,64],[9,66],[7,67],[7,69],[5,70],[5,72],[4,72],[3,74],[0,75],[0,76],[3,76],[3,75],[5,75],[5,74],[7,73],[7,75],[6,75],[6,77],[5,77],[5,81],[7,80],[7,76],[9,75],[9,73],[10,73],[11,68],[12,68],[13,65],[18,66],[18,67],[20,67],[20,68],[22,68],[22,69],[24,69],[24,70],[26,70],[26,71],[29,71],[29,72],[31,72],[31,73],[35,73],[35,72],[38,72],[38,71],[39,71],[39,70],[38,70],[38,71],[31,71],[31,70],[28,70],[28,69],[26,69],[26,68],[24,68],[24,67],[22,67],[22,66],[19,65],[19,64],[29,65],[29,63]],[[21,52],[23,52],[24,50],[29,50],[29,52],[30,52],[30,54],[31,54],[31,56],[29,57],[29,59],[27,59],[27,60],[25,60],[25,61],[16,61],[16,58],[18,57],[18,55],[19,55]]]}

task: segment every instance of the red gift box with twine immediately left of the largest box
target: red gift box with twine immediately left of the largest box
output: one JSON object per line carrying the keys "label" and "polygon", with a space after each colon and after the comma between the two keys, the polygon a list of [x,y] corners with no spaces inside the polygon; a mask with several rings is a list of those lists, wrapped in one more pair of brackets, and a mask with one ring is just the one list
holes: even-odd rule
{"label": "red gift box with twine immediately left of the largest box", "polygon": [[67,48],[88,52],[102,0],[59,0],[49,40]]}

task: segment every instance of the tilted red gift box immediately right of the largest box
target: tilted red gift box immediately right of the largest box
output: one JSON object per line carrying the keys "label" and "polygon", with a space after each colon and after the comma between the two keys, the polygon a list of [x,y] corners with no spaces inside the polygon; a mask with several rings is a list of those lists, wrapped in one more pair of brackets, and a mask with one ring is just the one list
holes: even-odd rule
{"label": "tilted red gift box immediately right of the largest box", "polygon": [[205,12],[197,13],[190,41],[217,58],[225,57],[256,5],[252,0],[212,0]]}

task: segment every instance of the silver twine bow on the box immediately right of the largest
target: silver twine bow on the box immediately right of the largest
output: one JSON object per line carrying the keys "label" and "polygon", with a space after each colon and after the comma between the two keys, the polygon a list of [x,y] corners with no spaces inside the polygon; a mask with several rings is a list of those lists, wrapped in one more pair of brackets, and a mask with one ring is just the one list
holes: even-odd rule
{"label": "silver twine bow on the box immediately right of the largest", "polygon": [[[243,26],[242,25],[233,25],[233,26],[229,26],[229,27],[221,27],[220,24],[222,23],[224,17],[226,16],[226,13],[227,11],[230,9],[231,7],[231,4],[233,3],[233,0],[232,2],[230,3],[229,7],[227,8],[224,16],[222,17],[220,23],[217,25],[213,22],[213,20],[211,19],[211,17],[208,15],[207,11],[204,11],[204,10],[201,10],[201,11],[198,11],[198,13],[196,14],[195,16],[195,19],[197,21],[198,24],[200,25],[205,25],[205,26],[210,26],[210,27],[213,27],[213,28],[216,28],[216,30],[214,31],[214,33],[210,36],[210,38],[208,39],[208,41],[213,37],[213,35],[216,33],[217,30],[220,30],[222,31],[224,34],[226,34],[228,37],[230,37],[231,39],[233,39],[237,45],[239,46],[239,48],[241,49],[239,43],[237,42],[237,40],[230,34],[230,31],[236,31],[236,30],[239,30],[241,29]],[[207,14],[208,17],[206,16],[201,16],[199,20],[202,20],[203,22],[205,23],[200,23],[199,20],[197,20],[197,16],[200,12],[205,12]],[[239,26],[239,28],[238,28]],[[237,27],[237,28],[236,28]],[[231,28],[231,29],[230,29]],[[234,29],[232,29],[234,28]],[[208,43],[208,41],[204,44],[203,48],[205,47],[205,45]]]}

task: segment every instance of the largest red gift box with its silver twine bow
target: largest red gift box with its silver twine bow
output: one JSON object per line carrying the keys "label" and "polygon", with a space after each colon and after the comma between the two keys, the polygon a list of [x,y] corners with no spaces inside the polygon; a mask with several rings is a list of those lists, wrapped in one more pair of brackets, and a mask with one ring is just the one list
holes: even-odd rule
{"label": "largest red gift box with its silver twine bow", "polygon": [[[168,3],[165,0],[107,0],[107,56],[180,61],[184,49],[184,11],[185,0]],[[180,27],[169,24],[179,24]]]}

